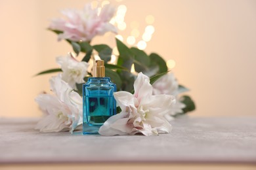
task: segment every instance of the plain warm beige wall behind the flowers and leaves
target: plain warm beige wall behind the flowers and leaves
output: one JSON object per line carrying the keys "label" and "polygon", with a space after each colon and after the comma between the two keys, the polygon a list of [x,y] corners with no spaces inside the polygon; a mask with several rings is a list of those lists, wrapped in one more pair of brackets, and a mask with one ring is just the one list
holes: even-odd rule
{"label": "plain warm beige wall behind the flowers and leaves", "polygon": [[[59,10],[82,9],[81,0],[0,0],[0,116],[40,116],[34,98],[49,91],[51,75],[33,77],[56,67],[55,57],[72,50],[46,28]],[[146,52],[174,59],[181,84],[196,101],[194,116],[244,116],[255,112],[256,1],[123,0],[129,23],[143,31],[152,14],[156,31]],[[93,43],[110,42],[114,35]]]}

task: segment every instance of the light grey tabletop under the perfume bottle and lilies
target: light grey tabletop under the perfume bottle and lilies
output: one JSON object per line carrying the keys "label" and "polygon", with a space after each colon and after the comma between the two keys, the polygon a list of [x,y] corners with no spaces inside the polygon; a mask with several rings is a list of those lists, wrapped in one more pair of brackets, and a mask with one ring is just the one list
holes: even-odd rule
{"label": "light grey tabletop under the perfume bottle and lilies", "polygon": [[0,118],[0,163],[256,163],[256,117],[182,117],[150,137],[40,133],[37,120]]}

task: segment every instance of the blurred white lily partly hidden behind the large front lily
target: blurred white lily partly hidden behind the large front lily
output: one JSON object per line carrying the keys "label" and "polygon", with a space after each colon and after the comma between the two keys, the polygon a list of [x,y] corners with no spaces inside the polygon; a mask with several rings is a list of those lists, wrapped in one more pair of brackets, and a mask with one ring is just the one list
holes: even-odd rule
{"label": "blurred white lily partly hidden behind the large front lily", "polygon": [[179,83],[177,82],[177,79],[173,75],[173,73],[168,73],[166,75],[161,76],[154,84],[153,86],[153,94],[169,94],[169,95],[175,95],[177,101],[175,105],[172,106],[172,109],[170,112],[168,112],[165,115],[165,118],[170,121],[173,120],[173,116],[176,114],[180,114],[183,112],[182,109],[186,107],[184,103],[181,102],[181,99],[178,97],[179,95]]}

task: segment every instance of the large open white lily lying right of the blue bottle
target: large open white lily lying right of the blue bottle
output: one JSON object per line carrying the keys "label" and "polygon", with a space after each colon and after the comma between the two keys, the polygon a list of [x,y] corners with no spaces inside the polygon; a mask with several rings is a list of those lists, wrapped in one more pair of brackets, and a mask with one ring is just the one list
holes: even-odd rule
{"label": "large open white lily lying right of the blue bottle", "polygon": [[135,93],[116,92],[114,97],[121,112],[110,117],[100,127],[100,135],[158,135],[170,133],[171,124],[164,115],[175,103],[173,95],[152,95],[148,76],[139,73],[134,84]]}

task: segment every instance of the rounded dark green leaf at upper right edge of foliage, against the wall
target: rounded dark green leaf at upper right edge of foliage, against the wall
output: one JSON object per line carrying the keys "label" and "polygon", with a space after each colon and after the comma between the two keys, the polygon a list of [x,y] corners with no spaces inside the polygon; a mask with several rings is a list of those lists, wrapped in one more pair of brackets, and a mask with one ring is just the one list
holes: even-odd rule
{"label": "rounded dark green leaf at upper right edge of foliage, against the wall", "polygon": [[161,58],[158,54],[152,53],[152,54],[150,54],[149,57],[150,57],[150,65],[158,66],[158,73],[165,73],[168,71],[165,60],[163,58]]}

